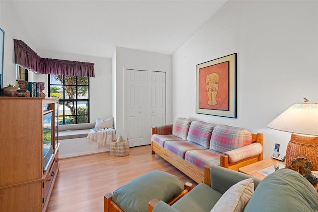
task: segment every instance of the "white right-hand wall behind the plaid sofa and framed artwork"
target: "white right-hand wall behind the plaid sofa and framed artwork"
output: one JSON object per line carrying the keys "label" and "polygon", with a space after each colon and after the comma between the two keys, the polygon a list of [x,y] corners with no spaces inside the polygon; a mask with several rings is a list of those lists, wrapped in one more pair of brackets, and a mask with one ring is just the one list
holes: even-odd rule
{"label": "white right-hand wall behind the plaid sofa and framed artwork", "polygon": [[[196,65],[237,58],[237,119],[195,113]],[[228,1],[173,55],[173,118],[264,133],[264,158],[290,133],[266,125],[295,102],[318,102],[318,1]],[[186,104],[184,103],[186,102]]]}

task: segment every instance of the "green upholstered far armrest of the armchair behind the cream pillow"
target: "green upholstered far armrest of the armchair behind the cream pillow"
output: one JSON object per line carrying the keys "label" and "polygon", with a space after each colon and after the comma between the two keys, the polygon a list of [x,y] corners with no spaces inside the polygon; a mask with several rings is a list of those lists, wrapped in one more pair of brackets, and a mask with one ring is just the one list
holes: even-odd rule
{"label": "green upholstered far armrest of the armchair behind the cream pillow", "polygon": [[227,169],[221,166],[210,167],[210,186],[221,194],[224,194],[224,192],[226,192],[231,186],[238,183],[239,181],[248,178],[254,179],[254,187],[256,189],[257,185],[261,181],[261,179],[258,177],[253,177],[251,175]]}

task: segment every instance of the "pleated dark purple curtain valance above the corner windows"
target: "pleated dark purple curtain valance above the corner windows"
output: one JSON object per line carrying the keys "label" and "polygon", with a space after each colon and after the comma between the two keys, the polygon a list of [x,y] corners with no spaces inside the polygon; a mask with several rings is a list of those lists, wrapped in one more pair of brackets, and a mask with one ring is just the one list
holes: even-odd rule
{"label": "pleated dark purple curtain valance above the corner windows", "polygon": [[14,39],[15,63],[38,74],[95,77],[94,64],[41,58],[21,40]]}

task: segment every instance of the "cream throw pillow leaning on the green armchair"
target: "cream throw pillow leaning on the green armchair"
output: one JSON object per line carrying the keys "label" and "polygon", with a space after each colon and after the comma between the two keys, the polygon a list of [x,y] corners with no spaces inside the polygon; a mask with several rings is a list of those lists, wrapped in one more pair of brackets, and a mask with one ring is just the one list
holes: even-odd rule
{"label": "cream throw pillow leaning on the green armchair", "polygon": [[254,179],[242,180],[231,186],[210,212],[242,212],[254,193]]}

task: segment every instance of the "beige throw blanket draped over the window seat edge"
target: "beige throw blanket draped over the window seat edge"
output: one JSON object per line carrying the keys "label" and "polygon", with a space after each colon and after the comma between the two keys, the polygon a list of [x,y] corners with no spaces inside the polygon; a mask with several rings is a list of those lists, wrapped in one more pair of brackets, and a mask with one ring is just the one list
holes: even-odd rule
{"label": "beige throw blanket draped over the window seat edge", "polygon": [[110,146],[110,141],[115,138],[116,130],[113,128],[94,128],[87,136],[88,142],[97,142],[102,146]]}

